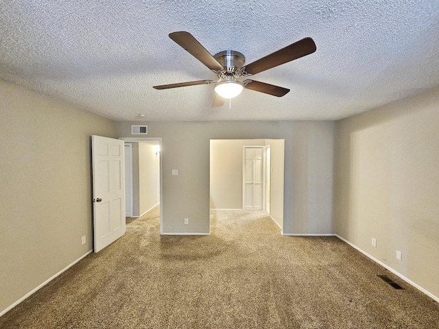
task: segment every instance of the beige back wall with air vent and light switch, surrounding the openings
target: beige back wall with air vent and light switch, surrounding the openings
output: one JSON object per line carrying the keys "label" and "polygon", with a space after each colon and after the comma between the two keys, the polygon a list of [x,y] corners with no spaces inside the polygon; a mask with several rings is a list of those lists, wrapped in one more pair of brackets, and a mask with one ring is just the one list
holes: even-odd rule
{"label": "beige back wall with air vent and light switch, surrounding the openings", "polygon": [[[132,124],[139,122],[118,123],[119,136],[135,137],[131,135]],[[163,138],[163,233],[209,234],[210,140],[254,138],[285,139],[283,232],[334,233],[331,205],[335,123],[233,121],[145,124],[148,125],[148,137]],[[305,158],[300,158],[302,156]],[[171,175],[172,169],[178,169],[178,176]],[[185,225],[185,218],[189,218],[189,225]]]}

